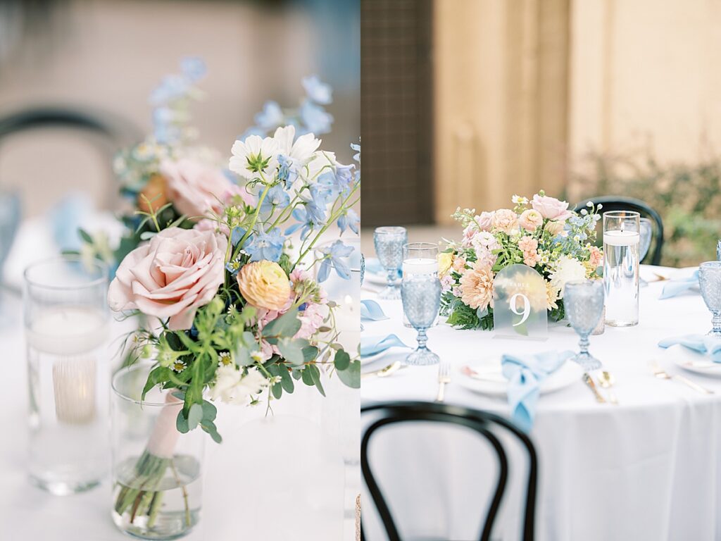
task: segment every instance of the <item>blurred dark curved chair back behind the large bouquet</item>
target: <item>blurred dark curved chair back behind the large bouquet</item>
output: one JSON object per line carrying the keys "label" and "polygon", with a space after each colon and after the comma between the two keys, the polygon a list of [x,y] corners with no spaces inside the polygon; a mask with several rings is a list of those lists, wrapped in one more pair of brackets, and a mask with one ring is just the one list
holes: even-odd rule
{"label": "blurred dark curved chair back behind the large bouquet", "polygon": [[[112,167],[115,151],[143,140],[143,132],[118,116],[74,105],[37,105],[0,116],[0,143],[9,136],[38,128],[70,128],[99,136],[105,143],[107,166]],[[112,178],[112,175],[110,175]],[[112,207],[118,190],[107,190]]]}

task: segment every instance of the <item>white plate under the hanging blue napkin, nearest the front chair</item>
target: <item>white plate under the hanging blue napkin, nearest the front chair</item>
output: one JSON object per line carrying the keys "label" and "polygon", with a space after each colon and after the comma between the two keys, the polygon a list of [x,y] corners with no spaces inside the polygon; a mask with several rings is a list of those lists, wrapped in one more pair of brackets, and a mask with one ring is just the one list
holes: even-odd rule
{"label": "white plate under the hanging blue napkin, nearest the front chair", "polygon": [[[469,366],[483,379],[469,377],[463,372],[464,366]],[[566,361],[557,371],[544,379],[539,390],[541,395],[565,389],[581,381],[583,369],[573,361]],[[479,392],[482,395],[505,397],[508,393],[508,379],[503,377],[500,366],[500,356],[490,357],[483,361],[475,361],[456,367],[456,382],[468,390]]]}

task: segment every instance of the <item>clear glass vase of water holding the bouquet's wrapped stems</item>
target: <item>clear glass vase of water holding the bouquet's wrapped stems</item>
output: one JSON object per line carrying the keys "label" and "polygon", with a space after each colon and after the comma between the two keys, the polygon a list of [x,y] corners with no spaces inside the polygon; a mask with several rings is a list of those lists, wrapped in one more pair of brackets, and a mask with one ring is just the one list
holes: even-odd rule
{"label": "clear glass vase of water holding the bouquet's wrapped stems", "polygon": [[149,540],[187,535],[200,519],[205,433],[180,434],[182,402],[153,387],[141,401],[151,364],[124,368],[112,379],[112,520]]}

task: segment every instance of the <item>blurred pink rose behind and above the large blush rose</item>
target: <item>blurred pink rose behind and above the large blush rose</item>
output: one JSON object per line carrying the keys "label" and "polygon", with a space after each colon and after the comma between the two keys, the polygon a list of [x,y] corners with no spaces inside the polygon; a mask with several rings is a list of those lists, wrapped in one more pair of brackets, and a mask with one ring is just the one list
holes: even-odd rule
{"label": "blurred pink rose behind and above the large blush rose", "polygon": [[160,164],[160,172],[168,183],[169,200],[178,212],[189,218],[205,216],[208,211],[220,214],[221,203],[228,203],[234,195],[249,205],[254,204],[251,195],[217,167],[188,158],[177,162],[166,159]]}

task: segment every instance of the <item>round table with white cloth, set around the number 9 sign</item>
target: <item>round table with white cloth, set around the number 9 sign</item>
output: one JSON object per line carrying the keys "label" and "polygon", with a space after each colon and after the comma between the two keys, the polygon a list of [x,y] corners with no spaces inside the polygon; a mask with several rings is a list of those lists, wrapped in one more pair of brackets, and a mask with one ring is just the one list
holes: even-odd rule
{"label": "round table with white cloth, set around the number 9 sign", "polygon": [[[653,278],[651,271],[665,276],[691,272],[645,267],[642,276]],[[616,380],[619,405],[597,403],[580,380],[541,395],[530,434],[539,454],[537,539],[721,539],[721,379],[678,368],[671,351],[657,346],[661,338],[706,333],[711,317],[698,291],[660,300],[662,289],[663,282],[642,287],[639,325],[607,326],[602,335],[590,339],[590,351]],[[363,298],[377,296],[364,291]],[[402,325],[401,302],[379,304],[389,320],[363,322],[364,335],[395,333],[415,346],[415,331]],[[428,337],[428,347],[451,362],[446,403],[503,415],[509,413],[508,403],[454,382],[459,378],[454,366],[502,353],[578,347],[577,335],[565,322],[549,325],[549,338],[541,343],[495,339],[491,332],[456,330],[442,322],[428,331]],[[364,365],[363,371],[406,355],[402,349],[391,350]],[[652,360],[715,394],[702,395],[680,382],[657,379],[650,369]],[[438,366],[409,366],[382,379],[365,377],[362,403],[432,401],[437,376]],[[497,471],[495,457],[479,440],[462,428],[438,424],[384,428],[376,434],[368,459],[404,540],[478,538]],[[521,537],[524,461],[515,449],[511,488],[494,538]],[[385,540],[367,491],[363,498],[366,539]]]}

